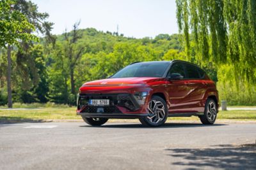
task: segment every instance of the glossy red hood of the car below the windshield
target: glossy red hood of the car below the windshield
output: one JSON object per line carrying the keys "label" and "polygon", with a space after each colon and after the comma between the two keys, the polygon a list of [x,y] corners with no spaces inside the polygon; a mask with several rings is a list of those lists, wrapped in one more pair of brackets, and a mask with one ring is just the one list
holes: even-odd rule
{"label": "glossy red hood of the car below the windshield", "polygon": [[115,85],[145,85],[153,81],[159,81],[162,78],[152,77],[132,77],[132,78],[108,78],[102,80],[89,81],[83,86],[115,86]]}

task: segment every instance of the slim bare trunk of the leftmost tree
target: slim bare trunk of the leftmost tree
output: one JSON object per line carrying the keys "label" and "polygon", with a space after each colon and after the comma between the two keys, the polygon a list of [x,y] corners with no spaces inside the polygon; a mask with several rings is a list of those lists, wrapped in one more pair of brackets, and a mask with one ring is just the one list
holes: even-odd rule
{"label": "slim bare trunk of the leftmost tree", "polygon": [[11,58],[12,48],[8,45],[7,49],[7,92],[8,92],[8,108],[12,108],[12,84],[11,84],[11,75],[12,75],[12,58]]}

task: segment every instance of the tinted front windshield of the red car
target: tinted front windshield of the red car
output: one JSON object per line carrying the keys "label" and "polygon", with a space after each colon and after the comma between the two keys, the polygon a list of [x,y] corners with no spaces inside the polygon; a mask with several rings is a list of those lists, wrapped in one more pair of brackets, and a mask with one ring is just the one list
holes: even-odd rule
{"label": "tinted front windshield of the red car", "polygon": [[124,67],[111,78],[163,77],[169,64],[168,62],[139,62]]}

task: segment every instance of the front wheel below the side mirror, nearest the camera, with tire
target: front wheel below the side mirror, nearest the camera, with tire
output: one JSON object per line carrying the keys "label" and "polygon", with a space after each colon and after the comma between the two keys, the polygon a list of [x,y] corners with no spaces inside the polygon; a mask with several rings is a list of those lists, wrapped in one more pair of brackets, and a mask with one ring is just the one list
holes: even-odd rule
{"label": "front wheel below the side mirror, nearest the camera, with tire", "polygon": [[[154,107],[156,105],[156,107]],[[162,97],[152,96],[148,102],[148,117],[140,118],[143,125],[158,127],[164,124],[168,117],[167,104]]]}

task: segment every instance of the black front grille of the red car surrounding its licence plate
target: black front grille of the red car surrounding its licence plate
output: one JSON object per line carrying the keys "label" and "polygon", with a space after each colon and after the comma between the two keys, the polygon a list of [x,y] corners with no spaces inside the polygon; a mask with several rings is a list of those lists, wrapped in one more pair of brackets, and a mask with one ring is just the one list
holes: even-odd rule
{"label": "black front grille of the red car surrounding its licence plate", "polygon": [[[109,99],[109,106],[90,106],[90,99]],[[122,113],[116,106],[134,111],[140,108],[131,94],[79,94],[77,108],[84,108],[85,113]]]}

